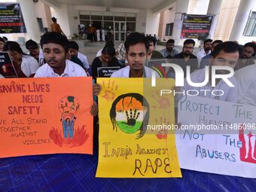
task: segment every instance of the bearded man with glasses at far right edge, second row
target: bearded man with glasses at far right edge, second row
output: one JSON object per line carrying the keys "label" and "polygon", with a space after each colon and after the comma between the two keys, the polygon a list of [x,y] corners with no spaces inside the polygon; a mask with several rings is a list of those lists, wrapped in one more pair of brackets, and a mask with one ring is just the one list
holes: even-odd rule
{"label": "bearded man with glasses at far right edge, second row", "polygon": [[235,67],[235,71],[241,69],[245,66],[251,66],[254,64],[254,56],[256,53],[256,44],[254,43],[247,43],[243,46],[242,55],[239,57],[239,61]]}

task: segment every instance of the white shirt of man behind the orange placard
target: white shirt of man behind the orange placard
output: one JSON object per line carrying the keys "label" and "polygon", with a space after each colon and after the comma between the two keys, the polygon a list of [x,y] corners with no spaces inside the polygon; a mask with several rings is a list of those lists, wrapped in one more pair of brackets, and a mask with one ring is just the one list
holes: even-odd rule
{"label": "white shirt of man behind the orange placard", "polygon": [[62,75],[56,74],[47,63],[41,66],[35,73],[35,78],[57,77],[87,77],[87,74],[81,66],[78,66],[78,64],[70,60],[66,60],[66,68]]}

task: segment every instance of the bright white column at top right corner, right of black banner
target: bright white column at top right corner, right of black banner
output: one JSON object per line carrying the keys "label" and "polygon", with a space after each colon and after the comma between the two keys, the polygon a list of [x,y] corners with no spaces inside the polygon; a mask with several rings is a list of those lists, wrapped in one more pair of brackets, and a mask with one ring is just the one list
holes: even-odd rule
{"label": "bright white column at top right corner, right of black banner", "polygon": [[230,32],[230,41],[239,41],[242,38],[242,33],[245,29],[248,15],[255,5],[255,0],[241,0],[236,12],[236,19]]}

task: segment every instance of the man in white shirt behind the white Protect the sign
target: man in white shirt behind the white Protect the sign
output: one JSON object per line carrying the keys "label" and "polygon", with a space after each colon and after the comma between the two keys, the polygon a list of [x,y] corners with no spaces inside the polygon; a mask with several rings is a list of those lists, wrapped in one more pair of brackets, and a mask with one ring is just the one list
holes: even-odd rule
{"label": "man in white shirt behind the white Protect the sign", "polygon": [[[216,79],[215,87],[212,86],[212,66],[229,66],[235,68],[236,63],[239,59],[239,44],[236,44],[233,41],[226,41],[224,43],[218,44],[215,47],[215,50],[212,52],[212,57],[209,63],[209,82],[203,87],[193,87],[187,83],[187,78],[184,81],[184,87],[181,87],[181,90],[184,93],[187,93],[187,90],[190,90],[190,95],[203,96],[210,99],[218,99],[227,102],[236,102],[237,99],[237,84],[236,78],[231,77],[228,80],[234,85],[234,87],[229,87],[227,83],[222,79]],[[216,70],[216,74],[225,75],[229,72],[227,70]],[[206,78],[206,69],[199,69],[197,72],[193,72],[190,75],[190,81],[193,83],[202,83]],[[210,90],[210,91],[202,91]],[[212,91],[215,90],[215,94],[212,94]],[[221,90],[221,91],[220,91]],[[223,94],[222,94],[222,93]],[[198,94],[197,94],[198,93]],[[178,103],[178,100],[183,96],[183,94],[178,94],[175,96],[175,102]]]}

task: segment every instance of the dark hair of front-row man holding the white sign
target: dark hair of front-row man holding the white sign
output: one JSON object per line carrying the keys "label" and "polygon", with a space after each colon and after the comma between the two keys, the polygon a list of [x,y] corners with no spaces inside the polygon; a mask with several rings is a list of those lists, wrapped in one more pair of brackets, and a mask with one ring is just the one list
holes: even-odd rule
{"label": "dark hair of front-row man holding the white sign", "polygon": [[212,56],[215,57],[218,53],[224,50],[225,53],[241,53],[241,47],[233,41],[225,41],[224,43],[217,44],[215,49],[212,51]]}

